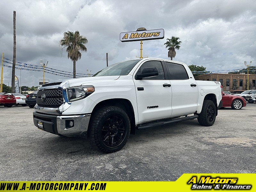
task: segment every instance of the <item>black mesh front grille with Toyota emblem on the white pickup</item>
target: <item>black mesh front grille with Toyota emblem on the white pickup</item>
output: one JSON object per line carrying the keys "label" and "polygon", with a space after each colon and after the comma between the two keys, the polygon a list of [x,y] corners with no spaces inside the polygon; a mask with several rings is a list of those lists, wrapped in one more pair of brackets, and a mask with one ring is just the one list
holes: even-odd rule
{"label": "black mesh front grille with Toyota emblem on the white pickup", "polygon": [[36,103],[39,107],[60,107],[63,103],[62,89],[44,89],[38,91]]}

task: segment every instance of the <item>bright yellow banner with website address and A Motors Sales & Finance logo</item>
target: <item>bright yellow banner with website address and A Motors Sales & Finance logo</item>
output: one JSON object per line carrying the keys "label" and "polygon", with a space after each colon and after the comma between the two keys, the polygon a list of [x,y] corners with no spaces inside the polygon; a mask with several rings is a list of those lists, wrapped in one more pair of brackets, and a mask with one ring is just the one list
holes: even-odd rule
{"label": "bright yellow banner with website address and A Motors Sales & Finance logo", "polygon": [[256,173],[183,174],[176,181],[0,181],[1,191],[256,191]]}

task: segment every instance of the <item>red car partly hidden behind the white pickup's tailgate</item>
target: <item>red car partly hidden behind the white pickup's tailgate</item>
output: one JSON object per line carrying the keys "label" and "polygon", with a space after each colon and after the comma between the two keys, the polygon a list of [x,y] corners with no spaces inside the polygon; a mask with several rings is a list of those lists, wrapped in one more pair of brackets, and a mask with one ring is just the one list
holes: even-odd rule
{"label": "red car partly hidden behind the white pickup's tailgate", "polygon": [[222,93],[222,108],[231,107],[232,109],[239,110],[246,106],[244,97],[238,95],[227,95]]}

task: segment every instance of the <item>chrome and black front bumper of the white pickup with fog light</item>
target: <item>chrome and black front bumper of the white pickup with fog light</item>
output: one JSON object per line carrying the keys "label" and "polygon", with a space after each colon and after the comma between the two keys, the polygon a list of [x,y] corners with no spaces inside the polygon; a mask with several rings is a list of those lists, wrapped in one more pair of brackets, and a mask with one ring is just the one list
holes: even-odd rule
{"label": "chrome and black front bumper of the white pickup with fog light", "polygon": [[[66,137],[82,136],[86,133],[90,117],[91,114],[60,116],[33,112],[33,120],[36,127],[43,131]],[[42,126],[38,126],[38,123],[42,124]]]}

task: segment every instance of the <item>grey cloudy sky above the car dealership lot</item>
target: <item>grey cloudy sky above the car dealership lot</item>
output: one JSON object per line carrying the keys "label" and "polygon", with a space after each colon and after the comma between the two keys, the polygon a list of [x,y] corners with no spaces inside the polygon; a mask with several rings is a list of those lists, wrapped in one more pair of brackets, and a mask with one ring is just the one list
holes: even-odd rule
{"label": "grey cloudy sky above the car dealership lot", "polygon": [[[256,65],[255,0],[1,0],[0,52],[13,58],[13,11],[16,11],[16,61],[73,72],[60,39],[66,31],[86,36],[87,52],[76,62],[76,73],[92,74],[119,61],[140,56],[140,42],[121,42],[122,32],[164,29],[164,39],[143,41],[143,57],[168,59],[166,38],[180,37],[173,60],[206,70]],[[9,61],[10,62],[10,61]],[[3,63],[4,65],[10,65]],[[43,72],[16,69],[24,86],[38,86]],[[11,86],[12,68],[3,68],[3,83]],[[45,73],[51,81],[67,77]]]}

